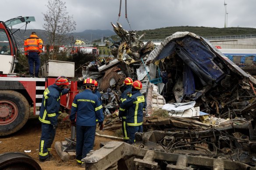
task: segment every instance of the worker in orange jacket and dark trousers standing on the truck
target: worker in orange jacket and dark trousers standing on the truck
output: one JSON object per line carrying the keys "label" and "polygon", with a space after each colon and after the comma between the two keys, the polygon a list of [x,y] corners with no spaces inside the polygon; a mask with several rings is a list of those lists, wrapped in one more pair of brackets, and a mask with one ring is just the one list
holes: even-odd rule
{"label": "worker in orange jacket and dark trousers standing on the truck", "polygon": [[35,64],[35,77],[38,77],[40,58],[39,54],[43,51],[43,41],[38,38],[36,32],[32,32],[30,37],[24,41],[25,56],[28,57],[29,74],[34,77],[34,64]]}

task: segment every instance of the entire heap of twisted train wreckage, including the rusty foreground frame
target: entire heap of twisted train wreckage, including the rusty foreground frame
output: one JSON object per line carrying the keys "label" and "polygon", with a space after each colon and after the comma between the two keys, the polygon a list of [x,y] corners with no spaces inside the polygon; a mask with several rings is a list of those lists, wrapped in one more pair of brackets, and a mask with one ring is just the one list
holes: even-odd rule
{"label": "entire heap of twisted train wreckage, including the rusty foreground frame", "polygon": [[[108,101],[109,114],[117,109],[117,91],[125,76],[141,80],[148,104],[143,127],[164,131],[136,133],[133,145],[102,144],[85,157],[86,167],[256,169],[256,79],[199,35],[176,32],[155,48],[151,41],[144,45],[135,31],[126,31],[119,23],[112,25],[121,38],[111,46],[115,59],[97,68],[97,74],[90,72],[92,66],[87,67],[87,76],[100,81],[100,91],[107,91],[103,99]],[[152,116],[161,108],[168,111],[168,117]],[[106,124],[105,129],[121,127],[119,121]]]}

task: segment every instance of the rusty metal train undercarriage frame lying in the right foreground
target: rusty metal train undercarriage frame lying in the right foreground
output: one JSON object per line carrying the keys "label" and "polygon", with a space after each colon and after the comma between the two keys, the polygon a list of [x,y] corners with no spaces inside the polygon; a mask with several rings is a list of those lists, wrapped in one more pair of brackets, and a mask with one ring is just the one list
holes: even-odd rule
{"label": "rusty metal train undercarriage frame lying in the right foreground", "polygon": [[83,161],[90,170],[254,170],[249,135],[247,124],[136,133],[133,145],[111,141]]}

